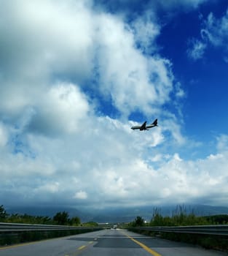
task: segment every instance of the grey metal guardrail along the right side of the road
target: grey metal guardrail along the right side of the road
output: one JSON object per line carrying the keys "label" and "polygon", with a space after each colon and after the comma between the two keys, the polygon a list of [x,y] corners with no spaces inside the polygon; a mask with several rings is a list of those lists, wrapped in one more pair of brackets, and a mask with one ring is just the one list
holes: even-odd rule
{"label": "grey metal guardrail along the right side of the road", "polygon": [[147,230],[165,233],[189,233],[211,236],[227,236],[228,225],[195,225],[179,227],[130,227],[130,230]]}

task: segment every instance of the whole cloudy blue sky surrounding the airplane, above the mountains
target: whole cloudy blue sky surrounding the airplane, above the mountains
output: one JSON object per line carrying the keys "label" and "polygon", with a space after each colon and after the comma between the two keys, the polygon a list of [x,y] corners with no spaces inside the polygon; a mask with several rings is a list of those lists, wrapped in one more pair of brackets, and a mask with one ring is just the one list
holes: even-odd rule
{"label": "whole cloudy blue sky surrounding the airplane, above the mountains", "polygon": [[0,205],[228,206],[227,1],[0,6]]}

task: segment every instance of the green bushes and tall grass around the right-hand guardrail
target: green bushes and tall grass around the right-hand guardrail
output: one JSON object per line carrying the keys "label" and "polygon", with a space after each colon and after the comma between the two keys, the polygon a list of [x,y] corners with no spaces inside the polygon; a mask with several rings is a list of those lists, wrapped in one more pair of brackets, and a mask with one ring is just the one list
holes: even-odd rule
{"label": "green bushes and tall grass around the right-hand guardrail", "polygon": [[[142,217],[136,217],[133,222],[127,225],[131,227],[152,227],[152,226],[192,226],[192,225],[228,225],[228,214],[199,217],[191,213],[187,214],[185,206],[176,206],[172,216],[162,216],[160,208],[154,208],[152,219],[145,222]],[[228,252],[228,238],[222,236],[208,236],[184,233],[157,233],[146,230],[133,230],[133,232],[143,233],[148,236],[160,236],[173,241],[183,241],[190,244],[197,244],[206,249],[219,249]]]}

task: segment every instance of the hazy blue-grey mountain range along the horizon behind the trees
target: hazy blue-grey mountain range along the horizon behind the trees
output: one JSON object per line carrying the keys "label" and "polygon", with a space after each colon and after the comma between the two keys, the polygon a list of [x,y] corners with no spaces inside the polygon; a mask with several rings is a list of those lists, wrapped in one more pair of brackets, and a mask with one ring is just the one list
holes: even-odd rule
{"label": "hazy blue-grey mountain range along the horizon behind the trees", "polygon": [[225,206],[204,206],[204,205],[178,205],[178,206],[135,206],[127,208],[104,208],[104,209],[82,209],[71,207],[10,207],[6,208],[8,214],[29,214],[33,216],[53,217],[60,211],[67,211],[70,217],[79,217],[82,222],[117,223],[132,222],[137,216],[145,220],[152,219],[154,209],[160,211],[163,216],[172,216],[180,211],[180,207],[186,214],[194,213],[197,216],[209,216],[216,214],[228,214],[228,207]]}

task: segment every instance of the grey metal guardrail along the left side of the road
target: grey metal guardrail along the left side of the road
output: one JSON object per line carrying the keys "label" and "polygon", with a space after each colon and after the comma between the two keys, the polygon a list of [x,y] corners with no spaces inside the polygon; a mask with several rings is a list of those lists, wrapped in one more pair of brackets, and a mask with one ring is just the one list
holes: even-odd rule
{"label": "grey metal guardrail along the left side of the road", "polygon": [[59,230],[101,230],[101,227],[74,227],[62,225],[33,225],[0,222],[0,233],[23,231],[59,231]]}

